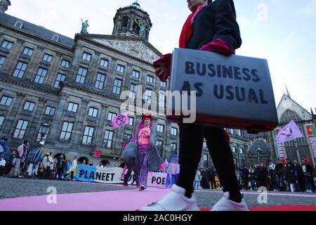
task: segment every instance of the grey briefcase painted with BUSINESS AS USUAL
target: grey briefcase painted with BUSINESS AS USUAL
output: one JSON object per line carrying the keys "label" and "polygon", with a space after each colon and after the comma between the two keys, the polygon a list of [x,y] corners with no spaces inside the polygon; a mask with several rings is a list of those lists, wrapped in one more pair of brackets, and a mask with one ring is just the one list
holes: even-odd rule
{"label": "grey briefcase painted with BUSINESS AS USUAL", "polygon": [[277,127],[265,59],[175,49],[170,89],[166,117],[171,122],[244,129],[251,134]]}

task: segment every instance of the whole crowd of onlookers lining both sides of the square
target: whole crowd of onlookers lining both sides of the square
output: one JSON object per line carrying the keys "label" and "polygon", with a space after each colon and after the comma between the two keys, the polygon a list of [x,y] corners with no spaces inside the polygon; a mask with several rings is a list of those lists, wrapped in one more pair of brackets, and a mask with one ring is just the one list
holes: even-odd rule
{"label": "whole crowd of onlookers lining both sides of the square", "polygon": [[[0,141],[0,176],[31,179],[55,179],[74,180],[74,172],[78,165],[93,166],[93,162],[85,159],[78,162],[77,157],[65,158],[63,154],[53,156],[46,152],[44,142],[40,142],[37,148],[29,149],[29,141],[25,140],[18,150],[10,150],[6,145],[8,136]],[[67,169],[67,162],[70,168]],[[98,167],[107,167],[100,162]],[[297,160],[286,162],[270,160],[269,165],[264,163],[251,167],[239,167],[237,179],[239,188],[242,190],[257,191],[265,187],[268,191],[291,191],[291,192],[314,192],[316,167],[308,158],[302,158],[301,163]],[[218,189],[221,188],[220,178],[213,167],[197,169],[195,174],[195,189]]]}

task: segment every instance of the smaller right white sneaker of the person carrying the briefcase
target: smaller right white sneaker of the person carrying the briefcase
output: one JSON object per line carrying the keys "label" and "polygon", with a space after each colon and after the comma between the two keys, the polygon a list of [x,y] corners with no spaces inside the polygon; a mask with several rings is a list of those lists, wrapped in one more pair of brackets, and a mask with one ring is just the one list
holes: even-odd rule
{"label": "smaller right white sneaker of the person carrying the briefcase", "polygon": [[211,211],[249,211],[244,198],[241,203],[235,203],[230,200],[230,193],[225,192],[224,197],[216,203]]}

